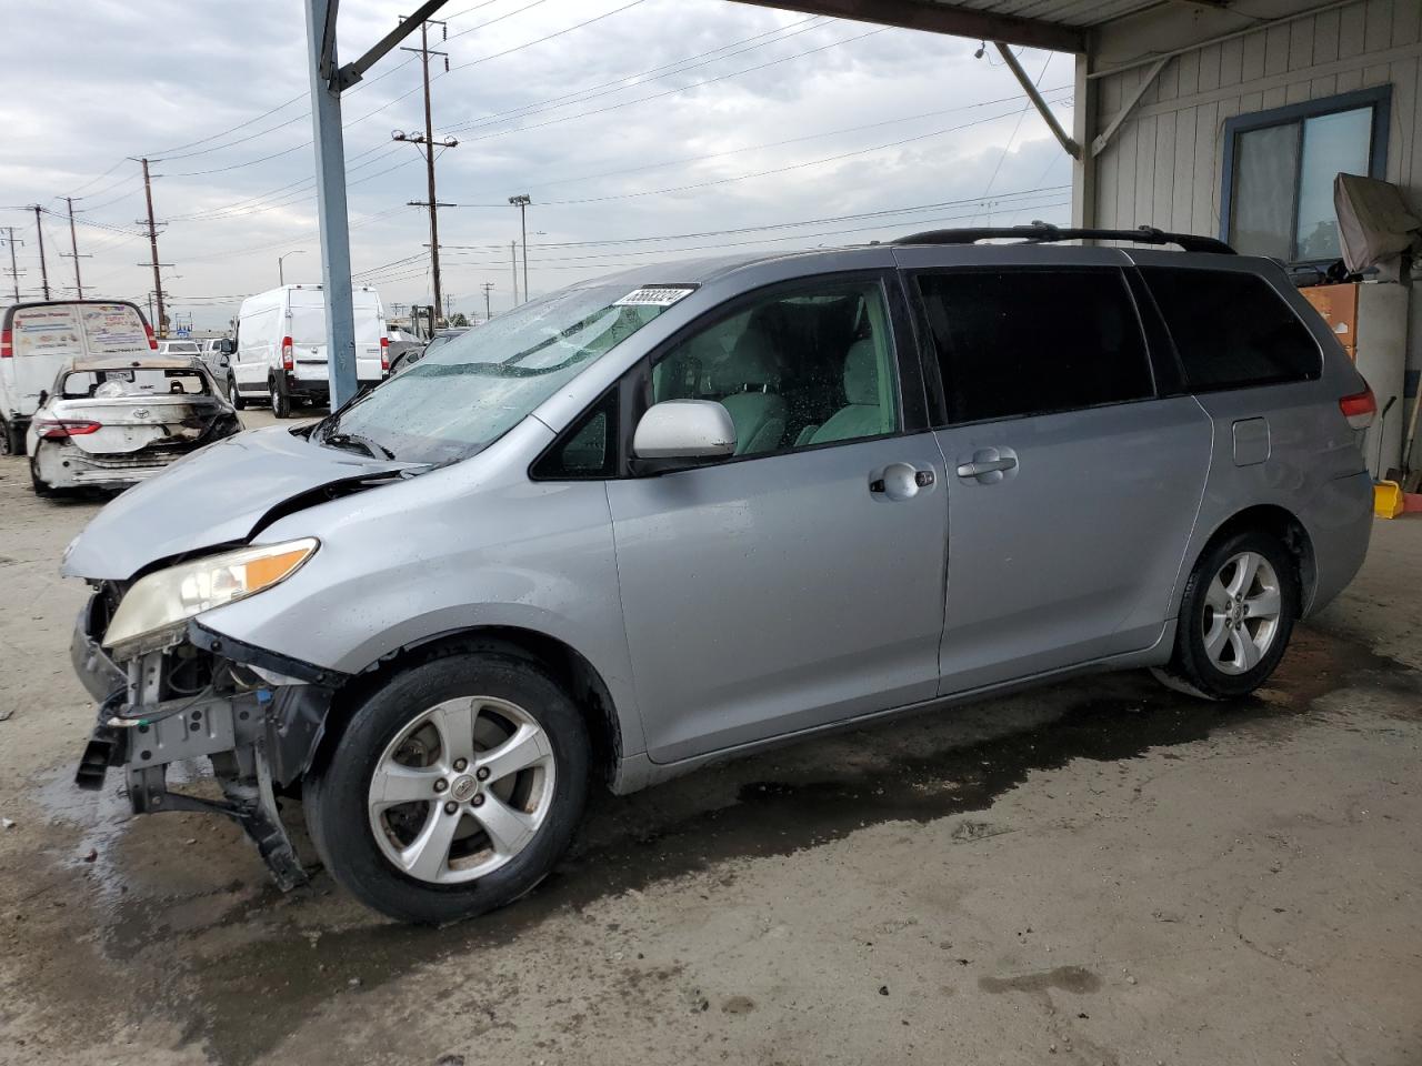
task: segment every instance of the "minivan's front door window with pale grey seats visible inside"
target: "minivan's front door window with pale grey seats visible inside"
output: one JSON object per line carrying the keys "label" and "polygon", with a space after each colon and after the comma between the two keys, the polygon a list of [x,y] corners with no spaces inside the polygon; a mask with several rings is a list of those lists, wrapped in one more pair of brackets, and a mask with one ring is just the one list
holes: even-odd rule
{"label": "minivan's front door window with pale grey seats visible inside", "polygon": [[651,371],[651,399],[721,402],[737,455],[897,432],[883,290],[826,279],[754,300],[667,351]]}

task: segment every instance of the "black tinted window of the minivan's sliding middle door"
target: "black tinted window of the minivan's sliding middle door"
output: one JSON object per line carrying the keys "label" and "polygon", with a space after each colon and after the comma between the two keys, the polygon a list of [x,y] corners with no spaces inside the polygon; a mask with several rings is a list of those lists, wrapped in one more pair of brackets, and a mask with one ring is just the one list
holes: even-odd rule
{"label": "black tinted window of the minivan's sliding middle door", "polygon": [[1118,270],[958,270],[917,277],[950,422],[1155,395]]}

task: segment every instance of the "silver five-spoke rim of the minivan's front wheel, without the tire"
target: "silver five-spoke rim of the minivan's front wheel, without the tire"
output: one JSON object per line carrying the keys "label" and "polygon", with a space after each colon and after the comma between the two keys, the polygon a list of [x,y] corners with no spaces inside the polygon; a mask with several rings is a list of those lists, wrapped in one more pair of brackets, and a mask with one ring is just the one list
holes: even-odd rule
{"label": "silver five-spoke rim of the minivan's front wheel, without the tire", "polygon": [[533,841],[555,780],[553,745],[533,715],[493,696],[447,699],[385,746],[370,780],[370,827],[408,877],[472,881]]}

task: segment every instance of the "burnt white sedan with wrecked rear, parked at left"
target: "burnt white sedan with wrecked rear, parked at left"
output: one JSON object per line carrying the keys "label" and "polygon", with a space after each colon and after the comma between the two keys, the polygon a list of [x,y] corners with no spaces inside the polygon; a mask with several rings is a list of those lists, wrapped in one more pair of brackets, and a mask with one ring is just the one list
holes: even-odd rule
{"label": "burnt white sedan with wrecked rear, parked at left", "polygon": [[41,394],[30,422],[30,479],[40,496],[124,489],[240,431],[198,360],[74,360]]}

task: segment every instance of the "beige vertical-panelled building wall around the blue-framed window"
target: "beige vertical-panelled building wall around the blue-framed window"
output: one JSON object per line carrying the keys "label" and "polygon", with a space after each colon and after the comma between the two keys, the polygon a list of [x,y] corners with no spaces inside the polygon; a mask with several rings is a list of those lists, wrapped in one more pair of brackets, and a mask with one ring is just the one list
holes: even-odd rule
{"label": "beige vertical-panelled building wall around the blue-framed window", "polygon": [[[1125,58],[1163,47],[1167,36],[1159,26],[1136,26],[1109,45]],[[1111,124],[1148,70],[1099,80],[1096,129]],[[1386,178],[1422,213],[1419,78],[1422,0],[1357,0],[1179,55],[1096,159],[1096,225],[1217,236],[1226,119],[1375,85],[1392,85]],[[1422,281],[1408,333],[1411,397],[1422,370]]]}

